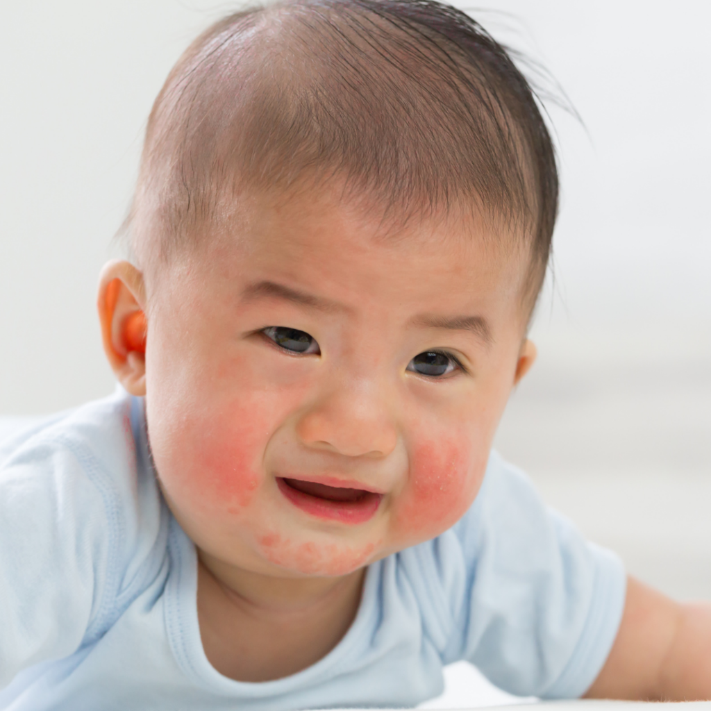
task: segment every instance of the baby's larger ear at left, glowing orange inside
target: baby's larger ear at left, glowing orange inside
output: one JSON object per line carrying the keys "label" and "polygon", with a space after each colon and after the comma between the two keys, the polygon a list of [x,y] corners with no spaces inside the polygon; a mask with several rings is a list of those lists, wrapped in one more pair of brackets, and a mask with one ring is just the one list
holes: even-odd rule
{"label": "baby's larger ear at left, glowing orange inside", "polygon": [[132,395],[146,394],[145,305],[143,274],[130,262],[105,264],[97,299],[104,352]]}

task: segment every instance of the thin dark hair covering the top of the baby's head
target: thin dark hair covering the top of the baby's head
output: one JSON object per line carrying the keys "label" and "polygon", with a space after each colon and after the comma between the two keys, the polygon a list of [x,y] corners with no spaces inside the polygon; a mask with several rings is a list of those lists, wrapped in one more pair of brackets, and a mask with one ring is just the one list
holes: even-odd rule
{"label": "thin dark hair covering the top of the baby's head", "polygon": [[528,247],[535,300],[557,213],[555,151],[529,82],[464,12],[283,0],[215,23],[151,112],[134,250],[147,240],[167,259],[196,225],[228,219],[225,196],[307,173],[344,176],[400,215],[457,203],[506,220]]}

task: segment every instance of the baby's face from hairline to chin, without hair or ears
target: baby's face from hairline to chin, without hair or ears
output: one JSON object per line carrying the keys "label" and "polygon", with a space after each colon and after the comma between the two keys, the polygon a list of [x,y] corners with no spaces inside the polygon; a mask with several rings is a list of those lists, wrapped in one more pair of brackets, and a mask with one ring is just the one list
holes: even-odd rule
{"label": "baby's face from hairline to chin, without hair or ears", "polygon": [[506,236],[471,217],[386,229],[340,196],[245,199],[154,285],[156,469],[224,565],[336,576],[442,533],[525,365]]}

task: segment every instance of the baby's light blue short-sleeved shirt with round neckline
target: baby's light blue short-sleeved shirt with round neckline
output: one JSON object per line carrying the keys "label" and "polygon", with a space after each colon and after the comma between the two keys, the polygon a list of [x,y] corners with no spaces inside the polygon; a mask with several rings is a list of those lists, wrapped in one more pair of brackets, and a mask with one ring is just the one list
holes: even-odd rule
{"label": "baby's light blue short-sleeved shirt with round neckline", "polygon": [[464,518],[371,565],[351,629],[299,673],[220,675],[196,583],[142,400],[117,392],[0,444],[0,709],[413,706],[461,659],[511,693],[575,697],[602,668],[625,595],[619,559],[496,454]]}

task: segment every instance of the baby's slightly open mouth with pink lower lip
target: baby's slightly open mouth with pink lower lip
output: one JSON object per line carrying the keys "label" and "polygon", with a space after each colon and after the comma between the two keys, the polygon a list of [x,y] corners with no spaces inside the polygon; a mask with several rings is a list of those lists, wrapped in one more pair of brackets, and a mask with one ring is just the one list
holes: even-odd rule
{"label": "baby's slightly open mouth with pink lower lip", "polygon": [[382,493],[348,486],[330,486],[316,481],[277,478],[277,486],[294,506],[316,518],[342,523],[365,523],[373,518]]}

